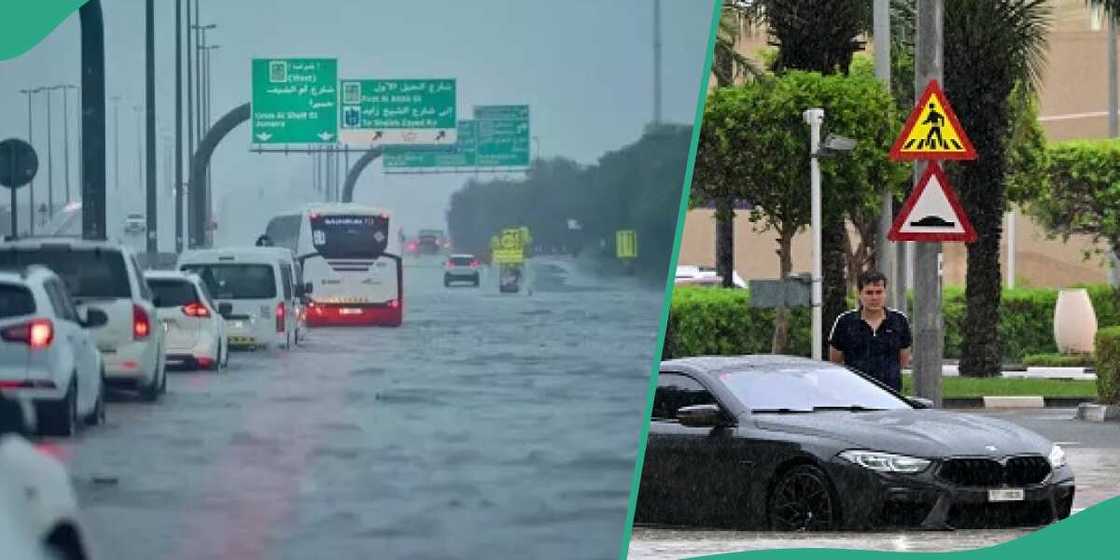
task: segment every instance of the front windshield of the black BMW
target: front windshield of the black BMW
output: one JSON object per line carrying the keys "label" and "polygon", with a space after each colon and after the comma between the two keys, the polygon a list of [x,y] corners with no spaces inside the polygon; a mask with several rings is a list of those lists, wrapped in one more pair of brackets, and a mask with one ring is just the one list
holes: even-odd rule
{"label": "front windshield of the black BMW", "polygon": [[724,373],[720,381],[752,412],[911,409],[902,399],[843,367],[788,367]]}

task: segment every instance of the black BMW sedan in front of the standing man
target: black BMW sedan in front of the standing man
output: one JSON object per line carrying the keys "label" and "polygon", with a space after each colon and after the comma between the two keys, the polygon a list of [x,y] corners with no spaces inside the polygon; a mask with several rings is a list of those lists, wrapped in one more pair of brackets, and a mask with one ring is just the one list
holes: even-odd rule
{"label": "black BMW sedan in front of the standing man", "polygon": [[802,357],[662,362],[636,522],[847,531],[1036,526],[1070,515],[1062,448],[927,404]]}

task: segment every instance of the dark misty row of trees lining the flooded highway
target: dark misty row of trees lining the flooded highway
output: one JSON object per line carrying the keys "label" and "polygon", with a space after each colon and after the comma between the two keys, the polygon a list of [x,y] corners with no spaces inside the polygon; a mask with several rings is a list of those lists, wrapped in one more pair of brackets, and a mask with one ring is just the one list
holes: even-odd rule
{"label": "dark misty row of trees lining the flooded highway", "polygon": [[[659,124],[591,166],[535,160],[523,178],[470,180],[451,195],[447,223],[456,248],[489,251],[491,236],[525,225],[544,251],[615,254],[615,232],[635,230],[636,267],[662,277],[676,233],[692,127]],[[578,224],[578,230],[570,225]]]}

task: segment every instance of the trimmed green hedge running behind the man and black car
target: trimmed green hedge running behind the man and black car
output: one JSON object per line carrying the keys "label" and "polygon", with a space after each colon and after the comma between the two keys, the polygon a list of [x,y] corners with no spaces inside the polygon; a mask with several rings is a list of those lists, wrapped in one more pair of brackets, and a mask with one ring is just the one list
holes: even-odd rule
{"label": "trimmed green hedge running behind the man and black car", "polygon": [[[1096,323],[1120,325],[1120,293],[1108,286],[1088,286]],[[665,356],[703,354],[752,354],[769,352],[774,310],[748,307],[747,290],[678,287],[665,339]],[[1032,354],[1054,354],[1054,306],[1057,290],[1017,288],[1004,290],[999,335],[1004,360],[1020,363]],[[911,306],[913,308],[913,305]],[[964,289],[949,287],[942,292],[945,324],[945,357],[961,357],[961,325],[964,323]],[[810,317],[806,308],[793,311],[791,354],[809,355]]]}

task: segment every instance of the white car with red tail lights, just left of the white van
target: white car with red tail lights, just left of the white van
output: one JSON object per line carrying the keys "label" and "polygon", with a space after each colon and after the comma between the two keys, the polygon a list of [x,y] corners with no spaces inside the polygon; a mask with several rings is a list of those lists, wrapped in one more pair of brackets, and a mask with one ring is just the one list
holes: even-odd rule
{"label": "white car with red tail lights, just left of the white van", "polygon": [[197,274],[144,272],[167,330],[167,362],[221,372],[230,362],[225,320]]}

